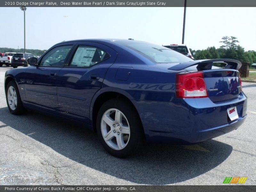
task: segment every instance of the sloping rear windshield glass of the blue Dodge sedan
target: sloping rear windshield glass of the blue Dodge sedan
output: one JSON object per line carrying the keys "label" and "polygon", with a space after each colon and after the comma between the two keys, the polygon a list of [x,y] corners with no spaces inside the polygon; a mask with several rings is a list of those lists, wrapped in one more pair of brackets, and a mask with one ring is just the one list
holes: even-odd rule
{"label": "sloping rear windshield glass of the blue Dodge sedan", "polygon": [[123,44],[124,46],[137,51],[155,63],[182,63],[192,61],[192,59],[185,55],[156,44],[132,40],[116,41],[116,43]]}

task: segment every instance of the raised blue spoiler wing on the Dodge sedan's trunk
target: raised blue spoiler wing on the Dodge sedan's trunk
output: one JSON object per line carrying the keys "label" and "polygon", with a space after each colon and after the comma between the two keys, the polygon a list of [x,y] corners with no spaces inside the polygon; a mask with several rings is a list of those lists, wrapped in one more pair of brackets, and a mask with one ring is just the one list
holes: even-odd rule
{"label": "raised blue spoiler wing on the Dodge sedan's trunk", "polygon": [[212,64],[214,62],[226,63],[227,65],[226,65],[225,69],[238,70],[242,66],[242,63],[240,61],[233,60],[233,59],[206,59],[206,60],[195,60],[195,61],[180,63],[180,64],[174,65],[168,69],[180,71],[182,69],[197,65],[197,67],[196,67],[197,70],[202,71],[202,70],[212,69]]}

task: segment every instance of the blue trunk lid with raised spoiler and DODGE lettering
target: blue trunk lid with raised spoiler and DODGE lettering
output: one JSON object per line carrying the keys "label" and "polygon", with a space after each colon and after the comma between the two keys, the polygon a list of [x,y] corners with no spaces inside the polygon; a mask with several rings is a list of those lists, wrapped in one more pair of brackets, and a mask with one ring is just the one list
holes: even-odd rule
{"label": "blue trunk lid with raised spoiler and DODGE lettering", "polygon": [[[212,102],[232,100],[239,97],[242,84],[238,69],[241,62],[231,59],[194,60],[186,63],[157,64],[156,68],[171,73],[183,74],[202,71],[204,81]],[[168,66],[170,66],[168,68]]]}

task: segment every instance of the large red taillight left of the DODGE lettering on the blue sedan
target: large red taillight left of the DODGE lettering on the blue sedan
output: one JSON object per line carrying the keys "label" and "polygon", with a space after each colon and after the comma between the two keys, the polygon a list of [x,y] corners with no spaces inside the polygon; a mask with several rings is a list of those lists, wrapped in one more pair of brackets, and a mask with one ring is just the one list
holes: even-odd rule
{"label": "large red taillight left of the DODGE lettering on the blue sedan", "polygon": [[202,98],[208,97],[203,72],[176,74],[176,97]]}

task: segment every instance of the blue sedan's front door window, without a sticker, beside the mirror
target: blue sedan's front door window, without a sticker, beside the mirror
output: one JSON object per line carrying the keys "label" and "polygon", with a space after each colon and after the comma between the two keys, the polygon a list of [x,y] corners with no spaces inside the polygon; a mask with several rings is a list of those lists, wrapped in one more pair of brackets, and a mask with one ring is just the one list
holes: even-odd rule
{"label": "blue sedan's front door window, without a sticker, beside the mirror", "polygon": [[65,45],[60,47],[55,47],[46,55],[44,55],[41,60],[40,66],[54,66],[54,67],[63,67],[64,61],[68,55],[68,52],[71,50],[72,45]]}

